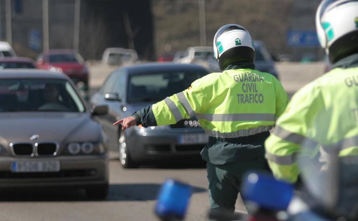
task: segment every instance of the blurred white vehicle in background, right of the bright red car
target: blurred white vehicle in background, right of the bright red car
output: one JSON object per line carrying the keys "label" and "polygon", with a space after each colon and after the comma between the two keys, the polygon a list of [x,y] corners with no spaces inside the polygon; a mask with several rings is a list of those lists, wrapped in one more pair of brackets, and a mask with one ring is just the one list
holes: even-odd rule
{"label": "blurred white vehicle in background, right of the bright red car", "polygon": [[132,64],[137,61],[138,55],[135,50],[125,48],[107,48],[103,52],[102,63],[109,65]]}

